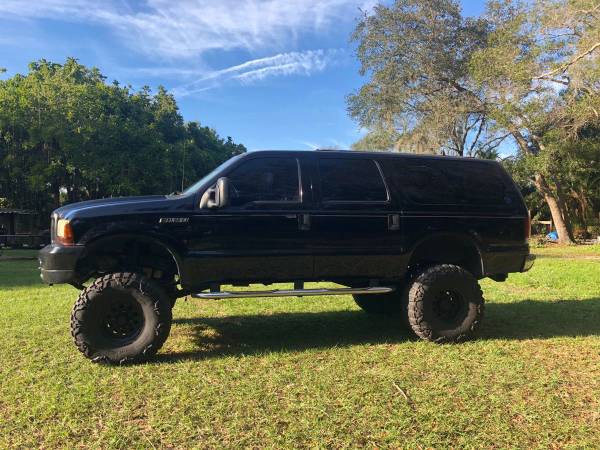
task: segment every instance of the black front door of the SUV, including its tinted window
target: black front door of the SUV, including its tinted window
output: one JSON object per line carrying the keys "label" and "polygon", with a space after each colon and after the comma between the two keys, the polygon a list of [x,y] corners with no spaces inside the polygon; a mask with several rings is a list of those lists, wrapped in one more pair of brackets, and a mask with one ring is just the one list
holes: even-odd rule
{"label": "black front door of the SUV, including its tinted window", "polygon": [[246,158],[223,174],[229,205],[198,209],[186,258],[188,280],[273,282],[310,278],[313,257],[301,219],[310,204],[296,157]]}

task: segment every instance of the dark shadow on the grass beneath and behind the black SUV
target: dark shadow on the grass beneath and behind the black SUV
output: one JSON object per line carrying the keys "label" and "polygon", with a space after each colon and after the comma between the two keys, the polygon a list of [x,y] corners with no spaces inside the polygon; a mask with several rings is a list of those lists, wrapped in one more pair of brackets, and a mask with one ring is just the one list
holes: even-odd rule
{"label": "dark shadow on the grass beneath and behind the black SUV", "polygon": [[[268,352],[398,343],[414,339],[400,318],[362,311],[280,313],[175,319],[191,331],[197,350],[160,354],[159,362]],[[488,303],[481,340],[600,335],[600,298]]]}

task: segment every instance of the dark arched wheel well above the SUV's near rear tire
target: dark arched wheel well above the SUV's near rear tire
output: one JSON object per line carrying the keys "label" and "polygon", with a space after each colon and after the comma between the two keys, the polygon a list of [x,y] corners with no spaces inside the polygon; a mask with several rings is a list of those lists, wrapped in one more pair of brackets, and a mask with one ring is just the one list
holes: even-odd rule
{"label": "dark arched wheel well above the SUV's near rear tire", "polygon": [[432,264],[455,264],[476,278],[483,276],[479,249],[466,236],[436,236],[417,244],[408,263],[409,270]]}

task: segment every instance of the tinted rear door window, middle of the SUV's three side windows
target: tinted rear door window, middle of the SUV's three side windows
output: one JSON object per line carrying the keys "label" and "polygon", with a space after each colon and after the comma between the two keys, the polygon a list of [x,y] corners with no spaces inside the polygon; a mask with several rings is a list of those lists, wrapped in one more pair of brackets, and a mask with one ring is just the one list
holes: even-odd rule
{"label": "tinted rear door window, middle of the SUV's three side windows", "polygon": [[387,190],[381,173],[370,159],[319,160],[321,196],[331,202],[384,202]]}

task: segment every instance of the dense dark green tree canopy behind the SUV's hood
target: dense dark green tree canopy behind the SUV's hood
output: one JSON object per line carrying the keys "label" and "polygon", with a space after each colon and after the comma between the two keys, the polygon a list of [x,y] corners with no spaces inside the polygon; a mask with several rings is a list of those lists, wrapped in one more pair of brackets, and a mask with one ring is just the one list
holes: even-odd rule
{"label": "dense dark green tree canopy behind the SUV's hood", "polygon": [[64,202],[180,190],[244,152],[184,122],[175,98],[107,83],[73,58],[0,81],[0,198],[49,212]]}

